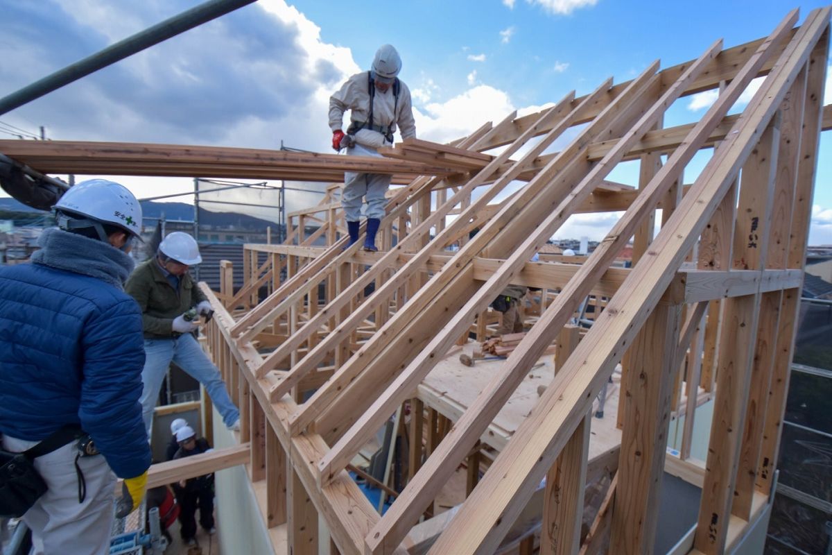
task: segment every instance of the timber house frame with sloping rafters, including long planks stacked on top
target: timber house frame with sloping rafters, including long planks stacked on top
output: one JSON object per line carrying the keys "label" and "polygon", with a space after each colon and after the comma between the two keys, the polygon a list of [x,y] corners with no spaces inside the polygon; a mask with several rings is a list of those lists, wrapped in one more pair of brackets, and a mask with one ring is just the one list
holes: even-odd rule
{"label": "timber house frame with sloping rafters, including long planks stacked on top", "polygon": [[[293,215],[285,245],[247,245],[243,290],[209,291],[210,352],[240,404],[252,479],[266,482],[267,522],[288,523],[293,553],[317,553],[318,515],[333,553],[422,553],[414,525],[552,344],[552,383],[473,478],[429,553],[497,553],[541,494],[542,553],[652,553],[668,465],[695,476],[703,492],[680,553],[724,553],[756,522],[775,479],[824,126],[830,8],[797,21],[795,10],[760,40],[728,49],[717,41],[691,62],[660,71],[656,61],[629,82],[572,92],[452,145],[407,140],[384,161],[351,158],[358,166],[349,168],[341,156],[196,147],[0,141],[0,151],[40,171],[337,181],[359,169],[406,182],[390,198],[379,253],[360,251],[361,241],[346,246],[328,198]],[[729,115],[755,77],[765,77],[758,92]],[[719,97],[701,119],[664,128],[673,102],[708,90]],[[552,152],[555,144],[564,146]],[[686,184],[691,159],[709,149]],[[632,160],[637,189],[608,181]],[[508,195],[518,180],[524,185]],[[528,261],[570,216],[617,211],[581,265]],[[318,230],[307,235],[310,223]],[[319,237],[328,248],[312,246]],[[631,269],[612,268],[631,239]],[[488,305],[512,283],[552,291],[532,330],[452,424],[423,423],[419,384],[469,330],[484,329]],[[258,302],[263,286],[270,295]],[[587,295],[607,297],[606,307],[570,343]],[[582,538],[583,484],[593,473],[588,414],[619,363],[617,473]],[[682,382],[716,398],[704,468],[684,449],[667,460]],[[696,403],[688,399],[689,439]],[[348,470],[405,404],[417,442],[409,481],[381,516]]]}

